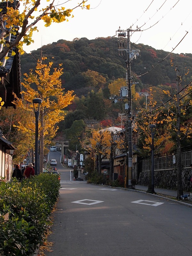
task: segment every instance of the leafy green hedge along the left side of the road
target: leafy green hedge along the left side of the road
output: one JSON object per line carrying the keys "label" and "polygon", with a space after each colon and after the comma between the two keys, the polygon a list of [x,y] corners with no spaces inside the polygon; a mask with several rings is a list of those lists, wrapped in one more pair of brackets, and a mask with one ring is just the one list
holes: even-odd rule
{"label": "leafy green hedge along the left side of the road", "polygon": [[[44,240],[59,196],[55,174],[0,183],[0,255],[32,255]],[[8,220],[7,220],[8,217]]]}

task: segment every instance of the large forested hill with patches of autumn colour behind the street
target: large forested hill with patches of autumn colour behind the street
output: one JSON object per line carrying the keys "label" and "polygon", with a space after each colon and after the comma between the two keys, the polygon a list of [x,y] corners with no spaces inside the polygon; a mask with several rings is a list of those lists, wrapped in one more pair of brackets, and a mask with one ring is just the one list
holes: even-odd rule
{"label": "large forested hill with patches of autumn colour behind the street", "polygon": [[[175,65],[178,65],[180,76],[188,71],[183,85],[188,84],[192,78],[192,54],[174,54],[156,50],[148,45],[133,44],[133,49],[140,50],[140,56],[132,61],[131,72],[133,81],[138,82],[136,92],[149,92],[149,87],[155,87],[154,99],[161,103],[159,90],[161,87],[175,87]],[[21,55],[21,72],[28,73],[34,69],[36,60],[42,55],[47,61],[53,62],[53,67],[63,64],[62,86],[67,90],[74,90],[77,98],[68,110],[80,111],[74,118],[87,118],[94,120],[111,120],[117,118],[122,108],[121,103],[110,104],[108,84],[123,78],[126,72],[125,60],[118,55],[117,38],[76,38],[72,42],[59,40],[44,45],[41,49]],[[167,58],[165,58],[168,56]],[[171,60],[173,65],[171,65]],[[94,78],[94,79],[93,79]],[[156,92],[155,92],[156,91]],[[90,94],[91,92],[91,94]],[[163,100],[167,98],[165,95]],[[140,99],[144,106],[145,97]],[[133,112],[138,108],[133,102]],[[75,117],[76,116],[76,117]]]}

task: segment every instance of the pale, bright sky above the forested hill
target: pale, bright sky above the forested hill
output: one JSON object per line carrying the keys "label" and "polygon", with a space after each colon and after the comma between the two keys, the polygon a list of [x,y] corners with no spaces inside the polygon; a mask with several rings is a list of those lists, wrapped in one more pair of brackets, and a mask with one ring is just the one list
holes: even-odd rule
{"label": "pale, bright sky above the forested hill", "polygon": [[[41,2],[42,6],[48,4],[46,0]],[[55,3],[72,9],[80,1],[64,2]],[[192,53],[192,0],[88,0],[87,4],[90,10],[75,9],[68,22],[46,28],[40,21],[39,31],[33,35],[35,42],[24,46],[24,51],[29,53],[60,39],[113,37],[119,27],[125,31],[131,27],[142,30],[131,33],[131,43],[147,44],[166,52]]]}

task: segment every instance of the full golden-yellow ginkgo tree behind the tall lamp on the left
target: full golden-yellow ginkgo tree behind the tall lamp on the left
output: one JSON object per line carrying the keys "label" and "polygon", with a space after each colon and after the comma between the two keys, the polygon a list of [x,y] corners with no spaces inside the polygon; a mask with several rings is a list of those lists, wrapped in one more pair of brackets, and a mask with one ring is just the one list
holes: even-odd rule
{"label": "full golden-yellow ginkgo tree behind the tall lamp on the left", "polygon": [[41,98],[43,100],[40,105],[40,170],[43,170],[44,145],[50,143],[55,136],[58,129],[57,123],[64,120],[65,117],[64,108],[74,99],[73,91],[64,92],[64,89],[61,88],[60,76],[63,74],[61,65],[59,68],[54,68],[51,74],[53,63],[44,64],[44,60],[46,57],[37,61],[35,73],[30,70],[29,74],[24,74],[23,100],[18,99],[15,102],[21,108],[28,108],[31,111],[28,122],[20,124],[18,127],[21,132],[26,132],[31,129],[35,131],[33,99]]}

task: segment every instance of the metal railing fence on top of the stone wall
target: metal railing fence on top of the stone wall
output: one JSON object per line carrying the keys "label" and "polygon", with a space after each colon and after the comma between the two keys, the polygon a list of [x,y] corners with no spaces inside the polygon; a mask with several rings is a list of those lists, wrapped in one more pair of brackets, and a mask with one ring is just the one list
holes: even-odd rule
{"label": "metal railing fence on top of the stone wall", "polygon": [[[150,171],[151,163],[149,160],[149,158],[142,160],[142,171]],[[154,170],[163,171],[175,169],[177,168],[178,161],[181,161],[183,169],[189,168],[190,164],[192,163],[192,150],[182,152],[180,160],[177,159],[177,154],[170,156],[154,157]]]}

